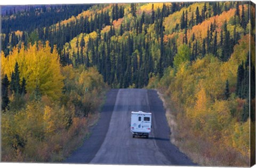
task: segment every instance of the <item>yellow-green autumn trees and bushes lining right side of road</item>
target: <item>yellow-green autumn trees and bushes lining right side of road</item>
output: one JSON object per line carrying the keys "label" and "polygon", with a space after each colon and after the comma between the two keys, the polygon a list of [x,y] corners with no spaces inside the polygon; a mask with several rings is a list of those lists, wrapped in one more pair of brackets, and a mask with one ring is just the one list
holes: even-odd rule
{"label": "yellow-green autumn trees and bushes lining right side of road", "polygon": [[255,42],[247,34],[226,62],[210,53],[189,62],[188,47],[180,46],[174,67],[165,69],[162,78],[150,78],[148,87],[163,93],[172,143],[200,165],[250,165],[255,89],[249,93],[249,70],[255,86],[255,63],[249,67],[249,42],[255,54]]}

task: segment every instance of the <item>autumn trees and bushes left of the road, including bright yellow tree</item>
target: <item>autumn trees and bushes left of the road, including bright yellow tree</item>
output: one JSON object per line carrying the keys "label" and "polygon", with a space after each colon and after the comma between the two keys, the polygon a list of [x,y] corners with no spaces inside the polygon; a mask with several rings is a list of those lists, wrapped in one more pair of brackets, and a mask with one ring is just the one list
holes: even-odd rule
{"label": "autumn trees and bushes left of the road, including bright yellow tree", "polygon": [[2,162],[59,162],[89,135],[107,90],[97,69],[61,67],[38,42],[2,53],[2,73]]}

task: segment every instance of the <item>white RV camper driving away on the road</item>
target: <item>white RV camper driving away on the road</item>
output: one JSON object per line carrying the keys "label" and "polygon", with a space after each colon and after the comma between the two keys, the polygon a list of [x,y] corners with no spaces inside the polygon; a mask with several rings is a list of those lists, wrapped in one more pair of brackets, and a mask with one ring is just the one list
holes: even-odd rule
{"label": "white RV camper driving away on the road", "polygon": [[143,136],[148,138],[151,132],[151,113],[145,113],[142,111],[134,112],[132,111],[131,116],[131,132],[132,138],[135,136]]}

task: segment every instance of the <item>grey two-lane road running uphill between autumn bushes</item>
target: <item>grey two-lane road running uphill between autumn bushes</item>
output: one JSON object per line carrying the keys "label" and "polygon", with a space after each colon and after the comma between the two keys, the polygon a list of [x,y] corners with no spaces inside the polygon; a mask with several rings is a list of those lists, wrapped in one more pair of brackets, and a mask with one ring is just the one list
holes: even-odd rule
{"label": "grey two-lane road running uphill between autumn bushes", "polygon": [[[132,138],[131,111],[152,113],[149,139]],[[195,165],[170,142],[170,129],[156,91],[111,90],[91,137],[66,163],[129,165]]]}

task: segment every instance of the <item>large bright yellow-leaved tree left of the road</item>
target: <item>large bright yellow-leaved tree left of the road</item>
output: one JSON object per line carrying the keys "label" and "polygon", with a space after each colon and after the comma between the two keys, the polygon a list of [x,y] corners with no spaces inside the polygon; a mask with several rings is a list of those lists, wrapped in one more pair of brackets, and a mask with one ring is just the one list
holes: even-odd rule
{"label": "large bright yellow-leaved tree left of the road", "polygon": [[2,52],[2,76],[7,74],[9,81],[11,81],[15,62],[19,65],[20,78],[26,79],[28,93],[33,93],[38,87],[42,95],[47,95],[52,100],[60,98],[64,77],[60,73],[60,61],[56,47],[51,52],[49,42],[45,45],[38,42],[29,45],[27,49],[24,45],[20,49],[14,47],[7,57]]}

